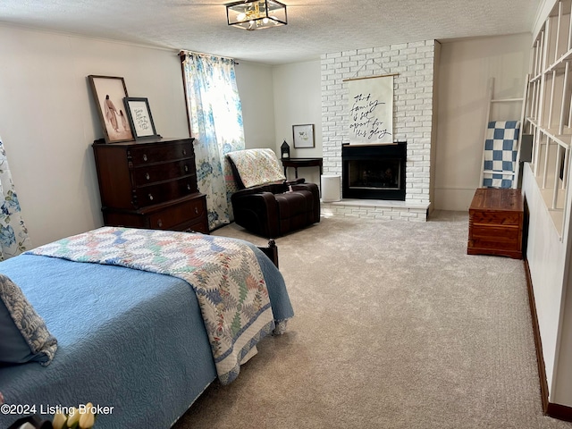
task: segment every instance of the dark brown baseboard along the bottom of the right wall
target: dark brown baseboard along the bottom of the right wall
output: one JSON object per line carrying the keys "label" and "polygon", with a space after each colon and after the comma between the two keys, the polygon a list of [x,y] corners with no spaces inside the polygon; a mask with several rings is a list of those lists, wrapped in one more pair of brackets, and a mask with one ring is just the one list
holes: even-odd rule
{"label": "dark brown baseboard along the bottom of the right wall", "polygon": [[540,336],[540,326],[538,325],[538,315],[536,314],[536,302],[534,300],[533,279],[530,274],[530,266],[525,258],[526,287],[528,289],[528,305],[530,306],[530,315],[532,316],[534,346],[536,348],[536,363],[538,365],[538,378],[540,381],[540,394],[543,400],[543,413],[546,416],[558,418],[572,422],[572,408],[565,405],[554,404],[549,402],[548,398],[548,381],[546,380],[546,366],[544,366],[543,357],[543,341]]}

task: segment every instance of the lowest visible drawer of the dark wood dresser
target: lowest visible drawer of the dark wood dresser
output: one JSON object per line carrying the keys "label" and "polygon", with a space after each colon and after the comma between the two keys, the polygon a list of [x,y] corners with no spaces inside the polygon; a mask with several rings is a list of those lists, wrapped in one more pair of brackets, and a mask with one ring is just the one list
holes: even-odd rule
{"label": "lowest visible drawer of the dark wood dresser", "polygon": [[[181,224],[200,223],[206,218],[206,198],[195,198],[149,215],[149,227],[170,230]],[[183,228],[177,228],[183,229]],[[186,228],[184,228],[186,229]],[[206,231],[208,232],[208,231]]]}

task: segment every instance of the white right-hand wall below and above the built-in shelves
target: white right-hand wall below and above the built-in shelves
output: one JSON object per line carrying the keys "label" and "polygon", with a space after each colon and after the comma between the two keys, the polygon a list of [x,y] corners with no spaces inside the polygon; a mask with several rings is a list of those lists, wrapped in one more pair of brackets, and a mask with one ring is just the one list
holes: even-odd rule
{"label": "white right-hand wall below and above the built-in shelves", "polygon": [[[543,0],[539,5],[534,38],[556,3],[556,0]],[[570,180],[568,172],[568,183]],[[572,188],[567,189],[568,209],[561,240],[529,168],[525,170],[523,190],[530,207],[527,259],[543,342],[549,400],[572,407]]]}

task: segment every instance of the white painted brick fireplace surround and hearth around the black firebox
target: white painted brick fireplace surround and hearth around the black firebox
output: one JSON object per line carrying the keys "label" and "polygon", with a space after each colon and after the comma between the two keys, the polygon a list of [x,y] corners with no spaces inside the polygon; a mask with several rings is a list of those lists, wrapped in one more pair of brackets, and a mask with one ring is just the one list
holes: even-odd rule
{"label": "white painted brick fireplace surround and hearth around the black firebox", "polygon": [[347,192],[342,192],[340,202],[323,203],[324,214],[426,220],[433,196],[433,92],[439,47],[435,40],[425,40],[322,55],[324,174],[340,175],[342,190],[348,187],[342,160],[342,147],[349,143],[348,88],[343,80],[397,73],[393,83],[393,138],[407,141],[404,198],[362,198],[351,193],[347,198]]}

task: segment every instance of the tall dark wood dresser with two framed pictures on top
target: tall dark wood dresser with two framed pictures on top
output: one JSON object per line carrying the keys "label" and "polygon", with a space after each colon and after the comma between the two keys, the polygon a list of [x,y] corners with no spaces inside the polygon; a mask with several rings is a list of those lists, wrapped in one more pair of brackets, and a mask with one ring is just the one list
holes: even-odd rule
{"label": "tall dark wood dresser with two framed pictures on top", "polygon": [[94,142],[105,225],[207,234],[193,140]]}

